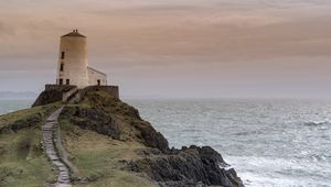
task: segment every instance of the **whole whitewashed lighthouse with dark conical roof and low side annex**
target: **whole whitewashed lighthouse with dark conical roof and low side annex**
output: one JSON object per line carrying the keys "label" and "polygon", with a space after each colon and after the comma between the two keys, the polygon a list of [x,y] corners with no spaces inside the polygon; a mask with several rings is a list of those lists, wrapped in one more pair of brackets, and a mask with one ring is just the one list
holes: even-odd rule
{"label": "whole whitewashed lighthouse with dark conical roof and low side annex", "polygon": [[87,40],[78,30],[61,36],[56,85],[106,86],[107,75],[88,67]]}

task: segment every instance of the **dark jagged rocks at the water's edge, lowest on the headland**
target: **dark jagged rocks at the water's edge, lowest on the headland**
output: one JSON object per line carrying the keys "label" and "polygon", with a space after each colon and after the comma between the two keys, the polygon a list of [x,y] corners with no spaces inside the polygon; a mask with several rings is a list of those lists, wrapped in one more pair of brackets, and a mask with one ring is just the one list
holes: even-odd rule
{"label": "dark jagged rocks at the water's edge, lowest on the headland", "polygon": [[161,186],[224,186],[241,187],[242,180],[221,154],[210,146],[172,150],[167,154],[131,161],[126,169],[145,172]]}

